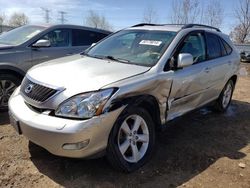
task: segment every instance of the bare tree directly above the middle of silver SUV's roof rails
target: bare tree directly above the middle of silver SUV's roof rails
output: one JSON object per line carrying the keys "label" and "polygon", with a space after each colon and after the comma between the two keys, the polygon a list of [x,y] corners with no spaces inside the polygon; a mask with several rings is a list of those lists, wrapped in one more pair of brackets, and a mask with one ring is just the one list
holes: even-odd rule
{"label": "bare tree directly above the middle of silver SUV's roof rails", "polygon": [[199,0],[175,0],[172,1],[171,22],[187,24],[198,21],[201,11]]}

